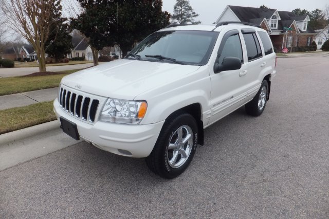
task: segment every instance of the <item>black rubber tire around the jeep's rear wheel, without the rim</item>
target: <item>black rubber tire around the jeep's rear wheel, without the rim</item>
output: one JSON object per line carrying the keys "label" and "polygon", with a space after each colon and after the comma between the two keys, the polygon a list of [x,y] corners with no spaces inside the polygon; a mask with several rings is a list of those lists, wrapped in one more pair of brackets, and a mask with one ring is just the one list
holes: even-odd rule
{"label": "black rubber tire around the jeep's rear wheel, without the rim", "polygon": [[[262,107],[259,108],[258,103],[259,103],[260,95],[262,94],[263,87],[265,87],[266,89],[265,103],[263,103]],[[246,113],[251,116],[260,116],[265,109],[267,99],[268,99],[268,83],[266,80],[264,80],[256,96],[254,96],[254,98],[249,103],[245,104]]]}

